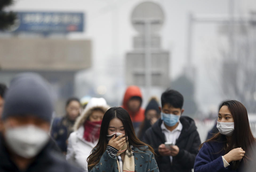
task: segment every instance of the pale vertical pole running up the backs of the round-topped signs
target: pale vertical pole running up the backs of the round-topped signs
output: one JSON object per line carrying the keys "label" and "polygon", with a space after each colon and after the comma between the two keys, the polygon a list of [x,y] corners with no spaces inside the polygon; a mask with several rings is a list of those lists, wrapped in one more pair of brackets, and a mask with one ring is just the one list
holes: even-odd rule
{"label": "pale vertical pole running up the backs of the round-topped signs", "polygon": [[145,97],[148,98],[151,93],[151,31],[150,31],[151,21],[145,21],[145,86],[146,94]]}

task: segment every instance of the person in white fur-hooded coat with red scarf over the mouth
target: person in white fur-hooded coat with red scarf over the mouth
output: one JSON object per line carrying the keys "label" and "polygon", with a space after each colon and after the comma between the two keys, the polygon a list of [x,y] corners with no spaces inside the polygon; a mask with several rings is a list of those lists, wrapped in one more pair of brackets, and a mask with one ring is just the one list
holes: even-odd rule
{"label": "person in white fur-hooded coat with red scarf over the mouth", "polygon": [[86,158],[96,146],[103,115],[109,109],[104,98],[91,98],[82,115],[77,118],[70,134],[66,159],[87,171]]}

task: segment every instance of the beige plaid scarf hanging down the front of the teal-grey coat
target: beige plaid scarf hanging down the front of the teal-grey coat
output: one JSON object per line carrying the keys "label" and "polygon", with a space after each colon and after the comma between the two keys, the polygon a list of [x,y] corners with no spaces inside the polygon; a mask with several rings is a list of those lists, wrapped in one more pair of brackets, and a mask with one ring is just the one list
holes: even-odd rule
{"label": "beige plaid scarf hanging down the front of the teal-grey coat", "polygon": [[[126,145],[126,144],[125,144]],[[126,145],[127,146],[127,145]],[[122,151],[118,151],[120,153],[117,153],[117,166],[118,166],[118,172],[134,172],[135,170],[135,163],[134,163],[134,149],[133,146],[130,146],[130,149],[126,149],[122,150]],[[125,159],[124,162],[122,162],[122,158],[120,156],[120,154],[125,151]]]}

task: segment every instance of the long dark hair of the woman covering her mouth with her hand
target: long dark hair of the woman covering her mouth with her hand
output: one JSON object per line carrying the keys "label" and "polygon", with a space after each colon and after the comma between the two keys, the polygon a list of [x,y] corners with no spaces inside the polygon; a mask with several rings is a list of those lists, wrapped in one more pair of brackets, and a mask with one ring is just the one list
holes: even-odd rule
{"label": "long dark hair of the woman covering her mouth with her hand", "polygon": [[[114,118],[118,118],[123,122],[123,126],[125,128],[125,134],[126,136],[128,136],[129,145],[133,145],[134,147],[148,146],[149,147],[148,149],[153,154],[155,154],[154,149],[151,146],[147,145],[146,143],[143,143],[136,137],[134,133],[133,124],[131,122],[131,118],[128,112],[121,107],[113,107],[107,110],[103,116],[102,123],[101,123],[101,131],[99,133],[99,141],[97,145],[93,148],[93,150],[95,151],[92,152],[90,156],[87,158],[89,169],[92,169],[95,165],[99,163],[100,157],[103,155],[103,153],[107,148],[106,135],[109,127],[109,122],[111,121],[111,119],[114,119]],[[127,146],[130,149],[129,145]]]}

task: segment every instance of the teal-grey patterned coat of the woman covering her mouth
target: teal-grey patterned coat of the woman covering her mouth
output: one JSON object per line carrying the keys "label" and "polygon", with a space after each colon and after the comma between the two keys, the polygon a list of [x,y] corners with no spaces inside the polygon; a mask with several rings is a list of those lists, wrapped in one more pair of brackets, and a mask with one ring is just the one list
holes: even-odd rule
{"label": "teal-grey patterned coat of the woman covering her mouth", "polygon": [[[154,154],[147,148],[147,146],[134,147],[135,172],[159,172]],[[95,165],[93,169],[88,169],[88,171],[118,172],[116,158],[117,157],[112,158],[107,152],[107,150],[105,150],[99,161],[99,164]]]}

